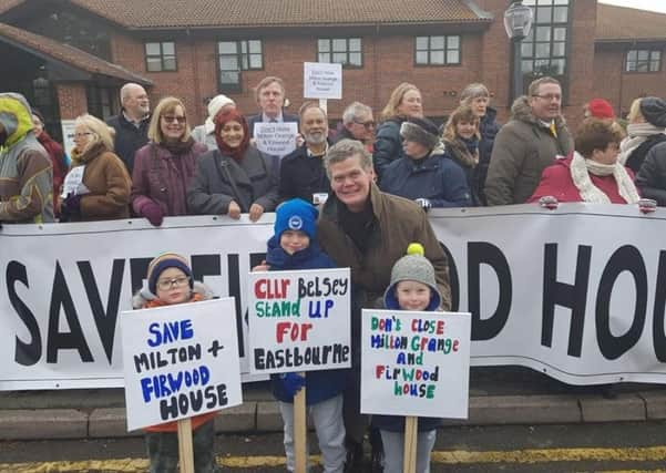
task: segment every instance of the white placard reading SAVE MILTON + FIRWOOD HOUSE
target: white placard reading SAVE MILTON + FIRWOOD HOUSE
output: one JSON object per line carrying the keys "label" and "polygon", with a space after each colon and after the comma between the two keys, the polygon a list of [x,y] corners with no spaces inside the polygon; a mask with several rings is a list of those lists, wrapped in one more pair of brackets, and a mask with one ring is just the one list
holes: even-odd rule
{"label": "white placard reading SAVE MILTON + FIRWOOD HOUSE", "polygon": [[243,403],[234,298],[121,313],[127,430]]}

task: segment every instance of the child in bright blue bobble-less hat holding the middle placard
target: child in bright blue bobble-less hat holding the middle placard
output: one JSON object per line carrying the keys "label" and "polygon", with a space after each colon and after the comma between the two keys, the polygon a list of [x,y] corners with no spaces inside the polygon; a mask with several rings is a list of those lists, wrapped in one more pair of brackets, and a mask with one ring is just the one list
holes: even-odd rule
{"label": "child in bright blue bobble-less hat holding the middle placard", "polygon": [[[311,204],[294,198],[275,215],[275,235],[268,240],[266,265],[270,270],[324,269],[335,267],[317,244],[317,216]],[[312,417],[325,473],[345,469],[345,423],[342,421],[344,370],[310,371],[273,376],[273,393],[279,401],[285,423],[287,470],[294,471],[294,395],[305,385],[306,404]]]}

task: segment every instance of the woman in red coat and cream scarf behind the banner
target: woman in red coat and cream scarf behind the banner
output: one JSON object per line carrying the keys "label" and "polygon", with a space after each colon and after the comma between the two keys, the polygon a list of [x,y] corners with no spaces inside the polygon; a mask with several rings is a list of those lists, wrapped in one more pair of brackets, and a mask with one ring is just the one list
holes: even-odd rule
{"label": "woman in red coat and cream scarf behind the banner", "polygon": [[544,169],[529,202],[553,196],[561,203],[637,203],[634,173],[617,162],[623,135],[611,120],[586,119],[576,134],[575,151]]}

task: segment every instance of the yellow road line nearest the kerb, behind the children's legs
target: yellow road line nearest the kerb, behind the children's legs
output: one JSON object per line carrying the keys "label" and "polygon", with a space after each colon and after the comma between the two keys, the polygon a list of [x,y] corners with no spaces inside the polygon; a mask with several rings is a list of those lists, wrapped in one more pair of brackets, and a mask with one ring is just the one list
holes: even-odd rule
{"label": "yellow road line nearest the kerb, behind the children's legs", "polygon": [[[432,463],[440,464],[491,464],[491,463],[550,463],[550,462],[654,462],[666,460],[665,446],[644,446],[626,449],[526,449],[510,451],[464,450],[432,452]],[[319,462],[318,455],[310,456],[312,463]],[[217,462],[226,467],[279,467],[285,465],[281,455],[266,456],[218,456]],[[16,473],[84,473],[90,470],[113,471],[117,473],[145,472],[148,462],[145,459],[88,460],[80,462],[43,463],[0,463],[0,472]],[[609,473],[608,471],[607,473]],[[644,472],[645,470],[623,470],[613,473]],[[649,473],[666,473],[665,470],[650,470]]]}

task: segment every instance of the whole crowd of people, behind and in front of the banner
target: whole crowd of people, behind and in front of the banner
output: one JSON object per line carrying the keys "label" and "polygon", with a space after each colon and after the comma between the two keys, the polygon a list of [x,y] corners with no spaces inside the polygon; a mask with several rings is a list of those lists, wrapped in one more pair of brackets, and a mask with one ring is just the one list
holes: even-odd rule
{"label": "whole crowd of people, behind and in front of the banner", "polygon": [[[535,80],[515,100],[503,126],[480,83],[461,92],[460,106],[440,128],[423,115],[421,92],[410,83],[392,91],[377,126],[371,107],[354,102],[337,133],[318,103],[306,102],[290,115],[285,96],[284,82],[266,78],[256,89],[257,114],[246,117],[233,100],[218,95],[207,104],[204,124],[193,128],[180,99],[163,97],[151,112],[145,90],[125,84],[120,115],[106,123],[88,114],[76,119],[70,163],[43,131],[39,112],[19,94],[0,93],[0,220],[136,216],[160,227],[167,216],[248,214],[257,222],[276,212],[266,261],[255,269],[349,267],[352,368],[274,379],[289,470],[290,402],[307,385],[324,471],[360,471],[369,422],[360,414],[361,308],[451,308],[447,256],[423,210],[543,198],[635,204],[642,194],[666,205],[666,102],[659,97],[637,99],[626,130],[606,101],[592,100],[572,134],[562,114],[562,88],[551,78]],[[286,156],[259,151],[257,123],[297,123],[295,151]],[[299,225],[291,227],[294,222]],[[413,243],[419,251],[406,256]],[[178,255],[156,258],[146,279],[137,308],[203,300],[209,292],[194,284]],[[421,296],[408,302],[408,292]],[[339,382],[331,383],[336,377]],[[388,445],[383,461],[373,454],[376,471],[381,464],[400,471],[403,422],[376,417],[372,423],[379,432],[375,444],[381,439]],[[211,419],[194,425],[205,429],[195,434],[196,471],[212,471]],[[429,471],[437,425],[419,424],[419,472]],[[175,471],[173,435],[171,426],[147,435],[152,471]]]}

